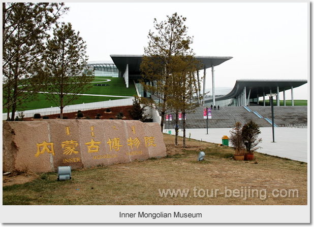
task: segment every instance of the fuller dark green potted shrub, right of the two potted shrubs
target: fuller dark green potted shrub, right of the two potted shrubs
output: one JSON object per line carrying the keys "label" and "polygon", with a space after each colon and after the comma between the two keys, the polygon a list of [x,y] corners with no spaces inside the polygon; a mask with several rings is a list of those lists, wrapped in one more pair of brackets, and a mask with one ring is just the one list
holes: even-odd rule
{"label": "fuller dark green potted shrub, right of the two potted shrubs", "polygon": [[244,146],[246,148],[246,153],[244,160],[250,161],[254,159],[254,151],[258,148],[262,138],[258,138],[258,135],[261,133],[260,127],[253,121],[249,121],[242,128],[242,139]]}

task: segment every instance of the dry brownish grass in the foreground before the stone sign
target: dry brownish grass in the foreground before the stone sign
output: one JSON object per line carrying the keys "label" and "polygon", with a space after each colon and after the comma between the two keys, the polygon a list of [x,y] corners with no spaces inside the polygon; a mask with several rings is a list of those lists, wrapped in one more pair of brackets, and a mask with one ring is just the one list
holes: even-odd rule
{"label": "dry brownish grass in the foreground before the stone sign", "polygon": [[[173,135],[164,134],[166,158],[73,170],[67,181],[57,181],[56,173],[45,173],[27,183],[3,183],[3,205],[307,204],[306,163],[260,153],[255,153],[254,161],[234,161],[231,147],[186,140],[183,149],[174,145]],[[200,150],[204,150],[205,160],[197,162]],[[6,179],[10,178],[14,182],[14,177]],[[163,189],[185,189],[189,194],[161,197]],[[231,194],[226,189],[240,194],[228,197]],[[255,190],[254,198],[248,196],[248,189]],[[298,197],[279,195],[289,189],[298,190]],[[207,190],[213,197],[207,197]],[[217,196],[215,190],[219,190]],[[239,196],[241,190],[243,196]]]}

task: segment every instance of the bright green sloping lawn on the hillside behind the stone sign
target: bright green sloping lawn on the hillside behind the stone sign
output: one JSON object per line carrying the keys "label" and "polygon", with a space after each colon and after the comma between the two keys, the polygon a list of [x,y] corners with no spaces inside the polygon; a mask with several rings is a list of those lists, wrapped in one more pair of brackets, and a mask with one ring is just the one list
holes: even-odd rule
{"label": "bright green sloping lawn on the hillside behind the stone sign", "polygon": [[[109,82],[103,82],[107,79]],[[136,89],[133,81],[130,82],[129,88],[125,88],[125,82],[123,78],[112,77],[95,77],[92,86],[85,94],[92,95],[118,95],[118,96],[134,96],[136,95]],[[107,84],[109,86],[94,86],[96,84]],[[71,102],[69,105],[89,103],[89,102],[101,102],[108,100],[121,99],[119,97],[100,97],[100,96],[84,96],[80,95],[78,99]],[[5,102],[5,100],[3,100]],[[57,106],[47,98],[46,94],[38,94],[33,101],[23,103],[18,107],[18,111],[25,111],[31,109],[49,108]],[[7,112],[7,109],[3,109],[3,112]]]}

